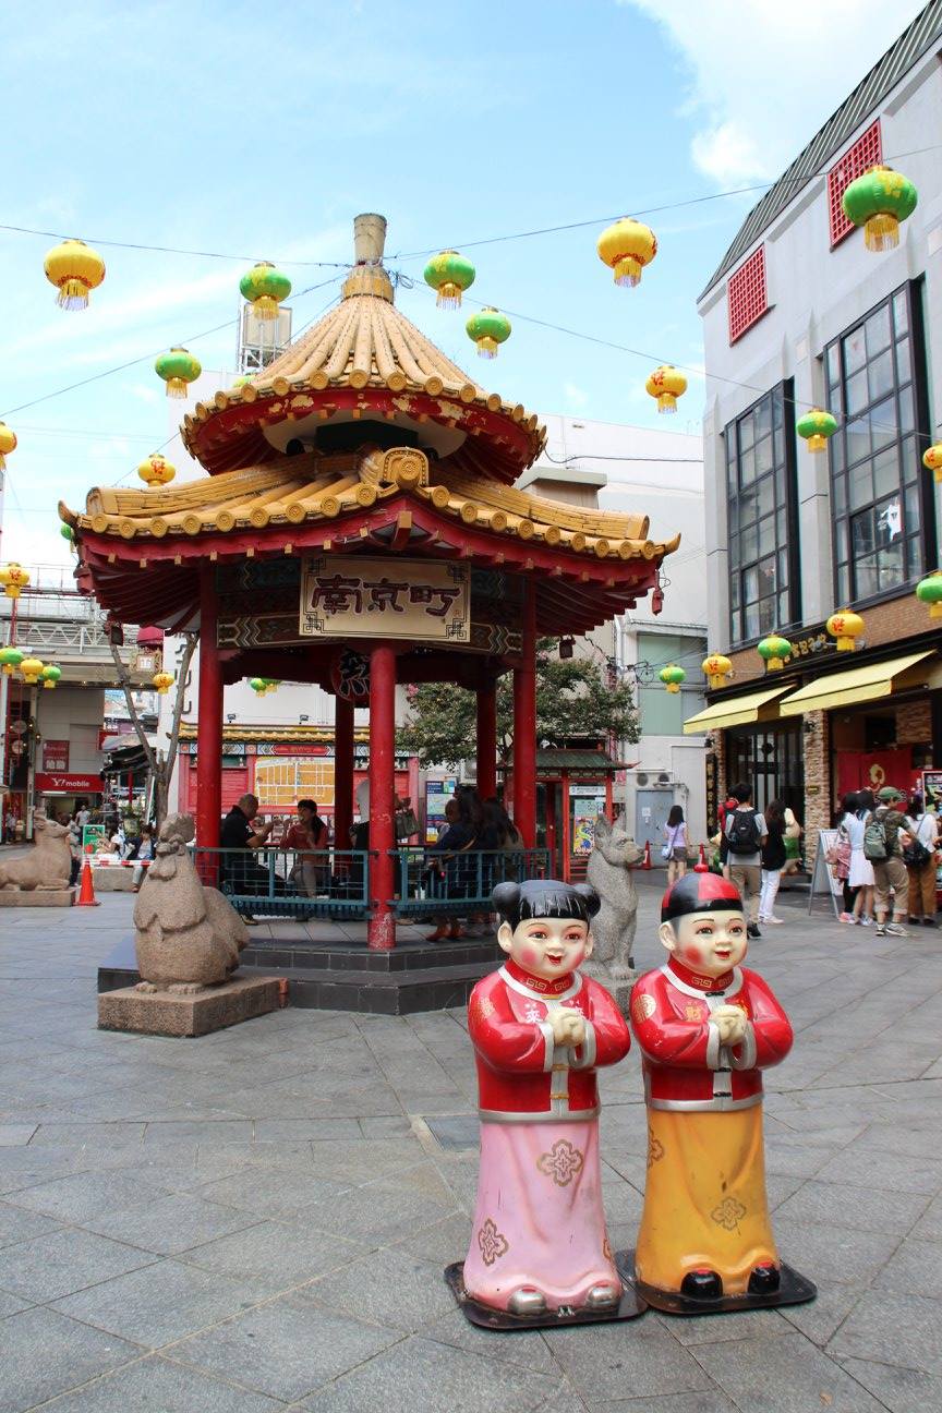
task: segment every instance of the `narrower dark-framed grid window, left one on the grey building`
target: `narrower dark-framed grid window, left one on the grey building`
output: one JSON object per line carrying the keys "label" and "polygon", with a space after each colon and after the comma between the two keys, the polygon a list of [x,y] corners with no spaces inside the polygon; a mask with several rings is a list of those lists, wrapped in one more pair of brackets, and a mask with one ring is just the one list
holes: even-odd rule
{"label": "narrower dark-framed grid window, left one on the grey building", "polygon": [[730,643],[801,616],[791,414],[791,383],[780,383],[726,427]]}

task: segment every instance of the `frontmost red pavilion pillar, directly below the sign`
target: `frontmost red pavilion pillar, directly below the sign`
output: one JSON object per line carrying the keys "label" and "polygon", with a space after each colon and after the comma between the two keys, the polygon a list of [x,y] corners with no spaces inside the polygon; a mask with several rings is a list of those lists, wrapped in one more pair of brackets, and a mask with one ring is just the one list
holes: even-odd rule
{"label": "frontmost red pavilion pillar, directly below the sign", "polygon": [[371,951],[395,947],[395,914],[390,907],[395,886],[395,653],[370,653],[370,899],[367,933]]}

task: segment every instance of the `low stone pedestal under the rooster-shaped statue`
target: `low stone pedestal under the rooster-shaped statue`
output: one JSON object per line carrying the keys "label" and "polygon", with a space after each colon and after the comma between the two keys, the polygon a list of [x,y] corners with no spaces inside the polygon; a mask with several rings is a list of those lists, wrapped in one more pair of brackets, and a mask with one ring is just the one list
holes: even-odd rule
{"label": "low stone pedestal under the rooster-shaped statue", "polygon": [[97,1024],[99,1030],[134,1030],[145,1036],[206,1036],[277,1009],[277,976],[236,976],[192,996],[143,992],[134,986],[102,992]]}

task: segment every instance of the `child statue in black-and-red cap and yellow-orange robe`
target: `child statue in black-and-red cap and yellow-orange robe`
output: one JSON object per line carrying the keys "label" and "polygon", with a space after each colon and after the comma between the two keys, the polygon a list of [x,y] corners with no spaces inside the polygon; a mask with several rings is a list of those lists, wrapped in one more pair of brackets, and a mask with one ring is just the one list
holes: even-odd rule
{"label": "child statue in black-and-red cap and yellow-orange robe", "polygon": [[765,1205],[761,1072],[785,1058],[792,1030],[739,965],[737,890],[688,873],[664,894],[660,935],[667,965],[631,993],[648,1106],[637,1289],[676,1314],[811,1300],[811,1282],[778,1259]]}

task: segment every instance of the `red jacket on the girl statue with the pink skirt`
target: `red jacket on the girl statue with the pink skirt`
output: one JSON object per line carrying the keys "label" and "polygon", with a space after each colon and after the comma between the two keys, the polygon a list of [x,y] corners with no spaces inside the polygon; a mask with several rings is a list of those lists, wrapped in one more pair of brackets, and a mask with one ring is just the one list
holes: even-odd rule
{"label": "red jacket on the girl statue with the pink skirt", "polygon": [[[583,1046],[555,1046],[552,1007],[579,1010],[586,1020]],[[477,1061],[480,1118],[530,1122],[595,1118],[599,1112],[596,1065],[617,1064],[631,1044],[628,1027],[612,995],[579,972],[539,981],[514,961],[479,981],[467,1007],[467,1030]]]}

